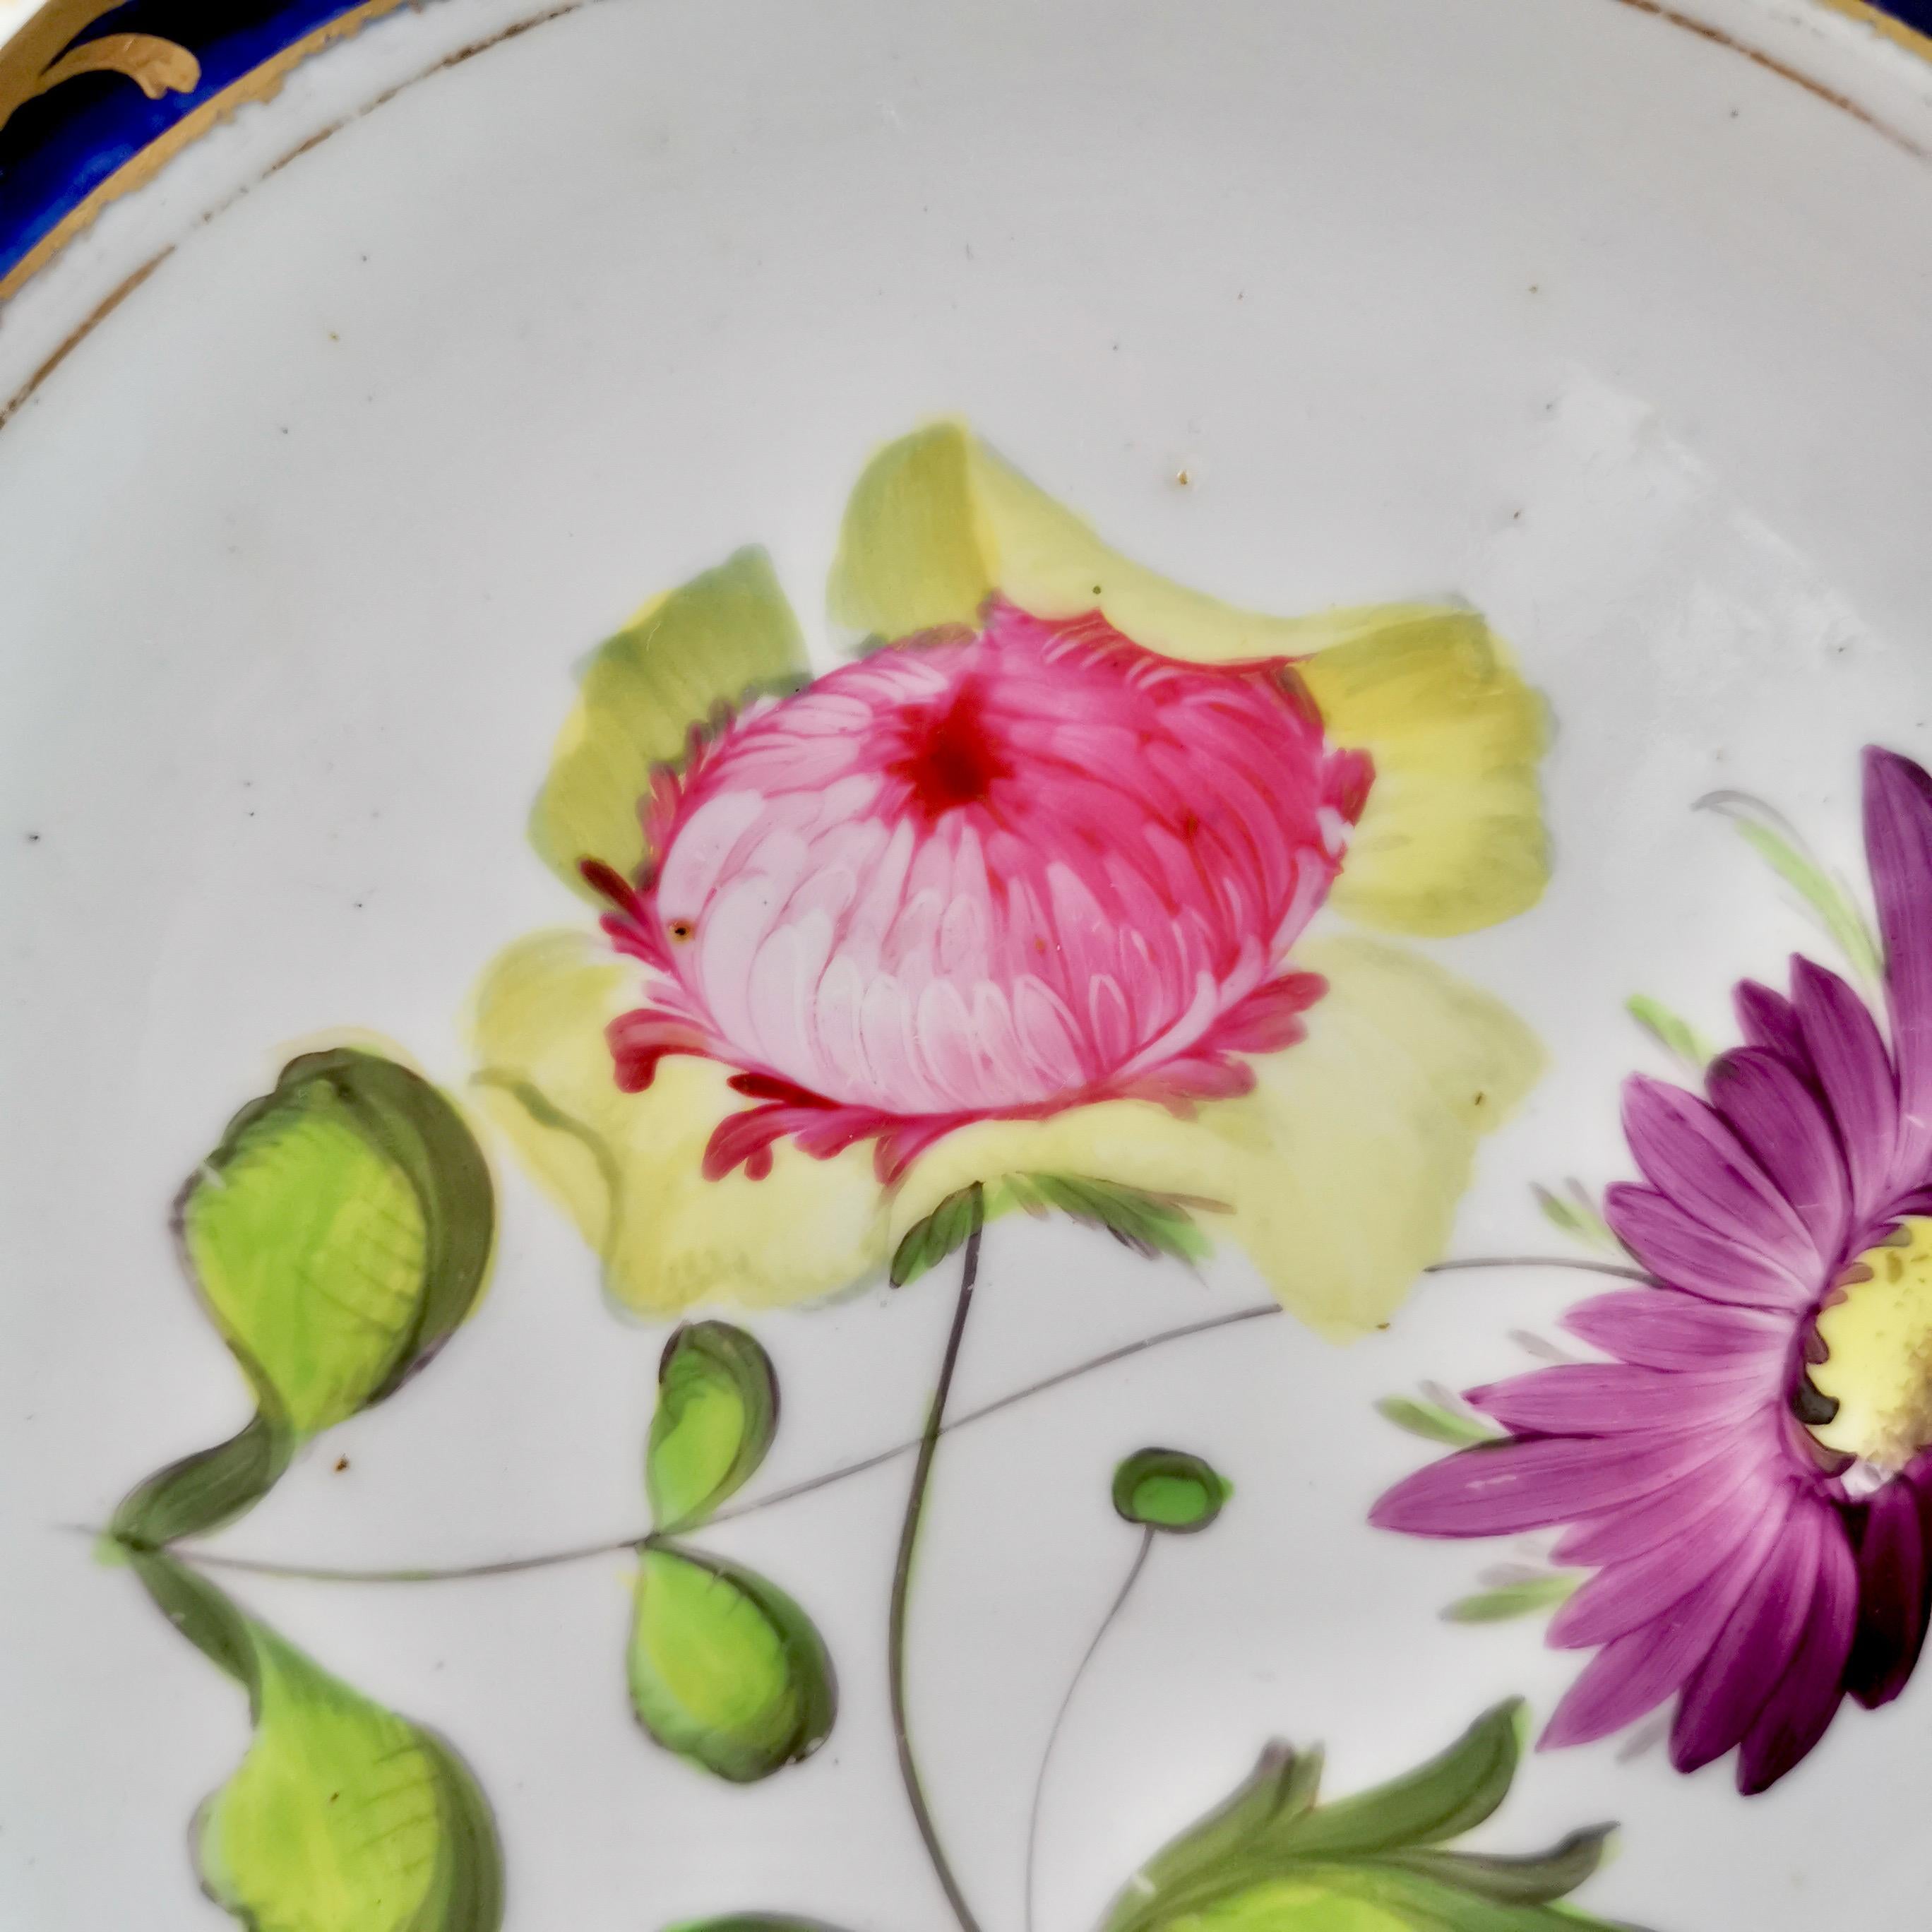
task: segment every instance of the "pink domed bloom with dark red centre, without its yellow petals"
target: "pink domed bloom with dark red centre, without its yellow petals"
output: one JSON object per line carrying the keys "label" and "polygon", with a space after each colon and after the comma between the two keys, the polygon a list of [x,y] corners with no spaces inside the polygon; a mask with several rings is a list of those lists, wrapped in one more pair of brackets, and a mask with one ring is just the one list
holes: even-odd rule
{"label": "pink domed bloom with dark red centre, without its yellow petals", "polygon": [[707,1173],[790,1136],[871,1140],[893,1182],[939,1136],[1097,1099],[1246,1094],[1302,1037],[1287,966],[1370,784],[1281,663],[1182,665],[1101,616],[993,601],[742,713],[663,773],[639,889],[599,883],[657,974],[611,1026],[618,1086],[667,1053],[734,1068]]}

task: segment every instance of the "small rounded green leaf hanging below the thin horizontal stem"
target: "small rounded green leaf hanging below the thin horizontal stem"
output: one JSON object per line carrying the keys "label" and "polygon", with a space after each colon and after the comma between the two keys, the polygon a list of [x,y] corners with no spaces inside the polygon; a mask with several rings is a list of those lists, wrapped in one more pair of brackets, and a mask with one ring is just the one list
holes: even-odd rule
{"label": "small rounded green leaf hanging below the thin horizontal stem", "polygon": [[667,1750],[742,1785],[810,1758],[838,1690],[817,1629],[777,1584],[653,1542],[638,1571],[630,1702]]}

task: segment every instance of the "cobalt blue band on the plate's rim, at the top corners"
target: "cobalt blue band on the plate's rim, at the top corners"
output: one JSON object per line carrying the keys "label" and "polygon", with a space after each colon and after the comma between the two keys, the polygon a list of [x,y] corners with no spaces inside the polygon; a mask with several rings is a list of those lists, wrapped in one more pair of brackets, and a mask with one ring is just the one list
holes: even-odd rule
{"label": "cobalt blue band on the plate's rim, at the top corners", "polygon": [[[124,73],[81,73],[14,110],[0,126],[0,284],[143,149],[276,54],[359,10],[361,0],[126,0],[89,21],[70,46],[155,35],[185,46],[201,77],[189,93],[149,100]],[[1884,10],[1932,35],[1932,0],[1889,0]]]}

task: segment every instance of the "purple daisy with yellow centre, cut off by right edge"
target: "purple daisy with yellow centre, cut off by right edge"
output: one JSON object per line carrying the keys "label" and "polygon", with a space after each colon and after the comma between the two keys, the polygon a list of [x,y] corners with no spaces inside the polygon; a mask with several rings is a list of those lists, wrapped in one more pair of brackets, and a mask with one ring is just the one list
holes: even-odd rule
{"label": "purple daisy with yellow centre, cut off by right edge", "polygon": [[[1864,753],[1884,1030],[1806,958],[1745,981],[1700,1099],[1625,1088],[1644,1186],[1605,1213],[1656,1285],[1565,1325],[1609,1360],[1470,1391],[1511,1434],[1397,1484],[1414,1536],[1561,1528],[1596,1575],[1549,1642],[1596,1650],[1544,1747],[1675,1696],[1671,1760],[1764,1791],[1839,1702],[1895,1698],[1932,1615],[1932,779]],[[1888,1041],[1889,1036],[1889,1041]]]}

